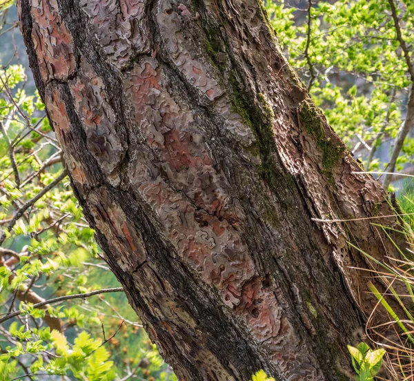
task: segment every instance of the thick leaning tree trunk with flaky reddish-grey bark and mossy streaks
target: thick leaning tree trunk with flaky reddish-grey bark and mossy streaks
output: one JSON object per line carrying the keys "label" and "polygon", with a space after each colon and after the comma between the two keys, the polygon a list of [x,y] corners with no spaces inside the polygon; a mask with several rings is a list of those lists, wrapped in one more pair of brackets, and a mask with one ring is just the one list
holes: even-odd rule
{"label": "thick leaning tree trunk with flaky reddish-grey bark and mossy streaks", "polygon": [[346,379],[375,305],[348,242],[393,255],[355,220],[393,211],[263,4],[20,0],[19,14],[75,195],[178,378]]}

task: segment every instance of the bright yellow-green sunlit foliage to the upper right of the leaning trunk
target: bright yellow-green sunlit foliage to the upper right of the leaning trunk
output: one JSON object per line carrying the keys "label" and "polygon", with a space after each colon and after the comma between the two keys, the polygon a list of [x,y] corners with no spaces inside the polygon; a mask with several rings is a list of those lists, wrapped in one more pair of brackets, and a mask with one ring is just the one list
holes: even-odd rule
{"label": "bright yellow-green sunlit foliage to the upper right of the leaning trunk", "polygon": [[[395,138],[411,79],[388,1],[314,2],[310,29],[306,7],[301,7],[268,2],[279,43],[306,82],[311,75],[309,61],[313,65],[311,95],[333,128],[351,150],[364,146],[363,141],[373,144],[383,126],[383,138]],[[412,2],[404,1],[397,12],[402,38],[412,50]],[[410,144],[404,147],[400,164],[414,156]],[[371,165],[383,168],[378,161]]]}

